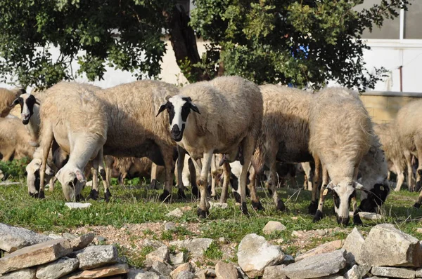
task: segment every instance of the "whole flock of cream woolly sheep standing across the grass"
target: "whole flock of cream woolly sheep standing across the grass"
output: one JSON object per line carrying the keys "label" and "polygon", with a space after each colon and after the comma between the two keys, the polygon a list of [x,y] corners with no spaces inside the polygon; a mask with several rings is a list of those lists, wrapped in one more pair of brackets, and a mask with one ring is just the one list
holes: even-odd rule
{"label": "whole flock of cream woolly sheep standing across the grass", "polygon": [[[93,177],[89,197],[98,198],[100,175],[108,200],[113,166],[124,169],[125,176],[138,163],[139,168],[151,170],[151,184],[164,174],[162,200],[171,198],[174,174],[179,198],[186,198],[184,184],[191,184],[192,193],[200,198],[200,217],[206,217],[210,208],[208,185],[211,196],[216,196],[219,170],[222,202],[229,184],[234,186],[234,174],[242,212],[248,213],[247,191],[252,207],[262,209],[255,186],[265,171],[267,189],[283,211],[286,206],[276,191],[277,164],[314,162],[312,174],[307,168],[314,222],[322,218],[324,199],[332,193],[338,223],[349,223],[352,203],[354,224],[360,224],[359,211],[375,212],[388,196],[388,167],[397,173],[397,189],[406,168],[409,189],[415,188],[412,156],[419,162],[417,184],[422,175],[422,128],[417,121],[422,100],[403,107],[394,123],[374,125],[352,90],[309,93],[257,86],[238,76],[183,88],[161,81],[106,89],[62,82],[32,94],[22,90],[0,94],[1,117],[20,104],[25,124],[13,117],[0,118],[0,153],[4,161],[13,156],[32,158],[27,165],[28,191],[40,198],[48,179],[51,189],[58,179],[66,200],[81,198],[88,169]],[[361,191],[359,207],[357,191]],[[422,196],[415,206],[421,203]]]}

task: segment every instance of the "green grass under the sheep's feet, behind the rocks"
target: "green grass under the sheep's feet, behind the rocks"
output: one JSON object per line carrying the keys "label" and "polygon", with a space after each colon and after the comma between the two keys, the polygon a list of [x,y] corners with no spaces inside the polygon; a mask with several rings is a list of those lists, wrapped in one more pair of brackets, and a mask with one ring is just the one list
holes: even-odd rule
{"label": "green grass under the sheep's feet, behind the rocks", "polygon": [[[15,167],[13,167],[15,168]],[[12,168],[12,169],[13,169]],[[303,247],[295,243],[291,236],[293,231],[329,229],[338,226],[333,214],[333,201],[328,198],[324,207],[324,219],[319,223],[312,222],[312,216],[307,214],[307,207],[311,198],[309,191],[296,189],[279,189],[279,195],[285,200],[289,209],[288,213],[275,210],[271,198],[266,191],[260,190],[260,200],[265,211],[255,212],[248,203],[250,217],[241,214],[238,206],[234,204],[233,198],[229,199],[229,207],[226,210],[212,209],[207,219],[198,219],[196,216],[196,202],[187,193],[188,201],[173,200],[172,203],[161,203],[158,196],[161,191],[147,189],[144,179],[133,179],[125,186],[113,185],[110,189],[113,194],[109,203],[104,200],[89,200],[92,204],[86,210],[70,210],[65,207],[65,200],[60,186],[56,186],[52,193],[46,191],[44,200],[30,198],[27,194],[27,186],[23,175],[15,176],[15,180],[21,183],[13,186],[0,186],[0,222],[13,226],[23,226],[34,231],[54,231],[63,233],[80,226],[112,225],[120,228],[124,224],[140,224],[145,222],[186,222],[199,225],[200,232],[193,233],[186,227],[177,226],[177,229],[155,236],[154,232],[146,229],[143,233],[148,237],[158,240],[177,240],[188,237],[212,238],[217,240],[224,236],[229,243],[240,243],[241,239],[248,233],[262,235],[262,228],[267,222],[274,220],[284,224],[287,229],[281,233],[272,233],[265,236],[267,240],[283,239],[284,252],[295,254]],[[139,184],[141,183],[141,184]],[[88,196],[89,188],[83,191]],[[101,190],[102,191],[102,190]],[[173,191],[177,196],[177,189]],[[103,193],[101,193],[102,195]],[[363,219],[361,231],[368,232],[371,227],[381,223],[395,224],[402,231],[421,239],[422,234],[416,233],[416,228],[422,226],[422,210],[417,210],[411,205],[414,204],[418,193],[409,193],[402,190],[399,193],[392,192],[387,203],[383,207],[384,218],[382,220],[369,221]],[[183,217],[167,217],[166,214],[177,207],[190,205],[193,209],[186,212]],[[352,229],[352,224],[348,229]],[[329,240],[344,239],[347,233],[338,232],[328,234],[322,238],[312,239],[311,245],[316,246]],[[309,249],[312,247],[309,247]],[[147,250],[134,254],[124,247],[120,247],[123,254],[130,259],[130,264],[141,266]],[[150,251],[151,252],[151,251]],[[217,259],[221,250],[217,245],[210,247],[205,253],[207,259]],[[235,259],[235,256],[234,256]]]}

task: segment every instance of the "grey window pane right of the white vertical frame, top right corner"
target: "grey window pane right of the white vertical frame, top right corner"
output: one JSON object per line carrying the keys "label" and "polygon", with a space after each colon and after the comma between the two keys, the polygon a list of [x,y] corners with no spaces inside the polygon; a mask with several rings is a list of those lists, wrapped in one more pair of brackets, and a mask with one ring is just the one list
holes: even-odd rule
{"label": "grey window pane right of the white vertical frame, top right corner", "polygon": [[404,11],[404,39],[422,39],[422,1],[411,1]]}

